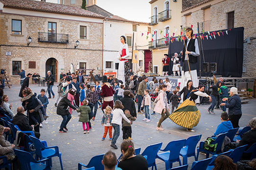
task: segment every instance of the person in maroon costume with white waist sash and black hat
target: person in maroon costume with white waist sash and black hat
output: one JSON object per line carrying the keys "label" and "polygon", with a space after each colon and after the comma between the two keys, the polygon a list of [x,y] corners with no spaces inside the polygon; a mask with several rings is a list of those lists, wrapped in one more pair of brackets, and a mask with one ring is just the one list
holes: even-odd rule
{"label": "person in maroon costume with white waist sash and black hat", "polygon": [[101,86],[101,96],[103,97],[103,104],[102,104],[102,110],[106,109],[107,106],[110,106],[113,109],[114,102],[113,102],[113,94],[115,91],[113,90],[113,87],[108,83],[107,76],[102,77],[102,83]]}

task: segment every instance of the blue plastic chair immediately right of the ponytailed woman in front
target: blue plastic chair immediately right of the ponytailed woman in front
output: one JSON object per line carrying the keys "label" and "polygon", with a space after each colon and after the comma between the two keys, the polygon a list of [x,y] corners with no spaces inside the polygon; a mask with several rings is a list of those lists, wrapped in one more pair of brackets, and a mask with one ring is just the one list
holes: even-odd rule
{"label": "blue plastic chair immediately right of the ponytailed woman in front", "polygon": [[162,142],[157,144],[151,144],[146,147],[143,153],[141,153],[143,156],[147,155],[147,159],[146,159],[147,167],[148,168],[152,167],[152,170],[154,169],[154,167],[155,167],[155,170],[157,170],[156,164],[155,164],[155,158],[162,144],[163,144]]}

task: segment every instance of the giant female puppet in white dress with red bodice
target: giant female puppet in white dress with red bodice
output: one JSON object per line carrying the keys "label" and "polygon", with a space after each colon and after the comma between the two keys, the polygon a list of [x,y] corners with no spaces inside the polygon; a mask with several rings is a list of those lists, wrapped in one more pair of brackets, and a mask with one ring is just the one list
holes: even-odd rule
{"label": "giant female puppet in white dress with red bodice", "polygon": [[125,36],[120,37],[120,41],[122,45],[119,49],[119,69],[118,69],[118,79],[122,80],[125,83],[125,88],[128,89],[129,85],[129,64],[128,64],[128,58],[130,56],[128,44],[126,43]]}

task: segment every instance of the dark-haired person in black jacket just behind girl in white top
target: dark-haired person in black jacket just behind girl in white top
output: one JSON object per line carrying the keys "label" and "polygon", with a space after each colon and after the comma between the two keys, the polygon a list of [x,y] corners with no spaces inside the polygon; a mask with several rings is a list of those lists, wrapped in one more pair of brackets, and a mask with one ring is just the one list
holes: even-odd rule
{"label": "dark-haired person in black jacket just behind girl in white top", "polygon": [[130,115],[134,118],[137,117],[137,112],[136,112],[136,107],[135,107],[135,103],[134,101],[130,98],[130,91],[129,90],[125,90],[124,91],[124,97],[120,99],[120,101],[122,102],[124,109],[125,110],[129,110],[130,111]]}

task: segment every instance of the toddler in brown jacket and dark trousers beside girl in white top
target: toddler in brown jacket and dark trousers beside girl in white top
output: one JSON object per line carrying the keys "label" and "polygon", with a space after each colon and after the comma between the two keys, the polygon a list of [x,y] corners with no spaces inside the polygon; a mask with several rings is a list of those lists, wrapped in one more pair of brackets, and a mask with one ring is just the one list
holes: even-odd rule
{"label": "toddler in brown jacket and dark trousers beside girl in white top", "polygon": [[[125,110],[125,116],[132,122],[132,120],[136,120],[132,115],[130,115],[129,110]],[[125,119],[122,119],[122,131],[123,131],[123,140],[129,139],[132,140],[131,138],[131,124],[128,123]]]}

